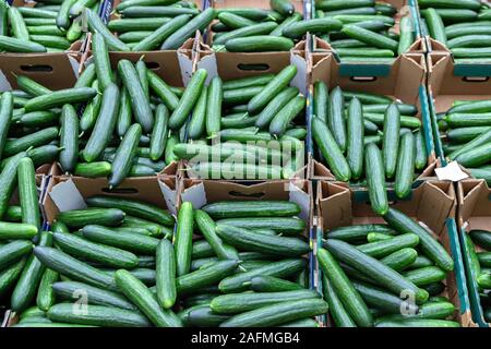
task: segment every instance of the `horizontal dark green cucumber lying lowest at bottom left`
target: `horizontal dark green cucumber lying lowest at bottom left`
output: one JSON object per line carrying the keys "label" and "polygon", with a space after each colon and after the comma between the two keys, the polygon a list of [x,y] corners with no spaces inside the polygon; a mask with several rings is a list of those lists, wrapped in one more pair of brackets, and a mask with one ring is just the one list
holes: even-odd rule
{"label": "horizontal dark green cucumber lying lowest at bottom left", "polygon": [[85,306],[86,312],[74,312],[75,304],[56,304],[49,309],[48,317],[55,322],[105,327],[148,327],[151,325],[145,316],[131,310],[103,305]]}

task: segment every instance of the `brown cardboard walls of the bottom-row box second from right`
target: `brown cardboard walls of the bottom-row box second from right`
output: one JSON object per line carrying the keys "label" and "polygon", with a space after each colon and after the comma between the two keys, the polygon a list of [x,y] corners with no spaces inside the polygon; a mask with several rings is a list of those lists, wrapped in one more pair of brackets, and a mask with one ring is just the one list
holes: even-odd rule
{"label": "brown cardboard walls of the bottom-row box second from right", "polygon": [[[464,264],[455,225],[456,196],[452,183],[428,181],[415,189],[407,201],[395,200],[391,207],[397,208],[428,227],[454,258],[454,272],[448,273],[446,289],[442,296],[455,305],[454,321],[463,326],[472,326],[467,297]],[[327,229],[359,224],[382,224],[374,214],[367,197],[350,190],[346,183],[321,181],[318,185],[318,229],[315,245],[320,246],[323,232]],[[316,255],[316,249],[314,250]],[[322,289],[321,272],[315,264]]]}

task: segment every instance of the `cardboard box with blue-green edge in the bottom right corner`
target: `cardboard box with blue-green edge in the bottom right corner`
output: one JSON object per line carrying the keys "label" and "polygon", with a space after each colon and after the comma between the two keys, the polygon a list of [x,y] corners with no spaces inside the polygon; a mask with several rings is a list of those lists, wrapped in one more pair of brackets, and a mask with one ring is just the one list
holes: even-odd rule
{"label": "cardboard box with blue-green edge in the bottom right corner", "polygon": [[[483,180],[466,180],[457,185],[458,216],[460,245],[466,266],[467,286],[472,310],[472,321],[481,327],[491,327],[487,323],[479,299],[479,290],[470,266],[469,251],[465,243],[465,234],[474,229],[491,231],[491,188]],[[478,251],[479,248],[478,248]]]}

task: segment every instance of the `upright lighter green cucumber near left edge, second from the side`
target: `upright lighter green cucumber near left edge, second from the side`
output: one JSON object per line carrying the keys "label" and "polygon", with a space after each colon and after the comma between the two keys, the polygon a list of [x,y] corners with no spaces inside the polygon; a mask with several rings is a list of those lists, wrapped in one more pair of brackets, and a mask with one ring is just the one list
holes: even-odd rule
{"label": "upright lighter green cucumber near left edge, second from the side", "polygon": [[36,186],[36,170],[33,160],[24,157],[19,161],[19,200],[22,208],[22,222],[40,229],[40,214]]}

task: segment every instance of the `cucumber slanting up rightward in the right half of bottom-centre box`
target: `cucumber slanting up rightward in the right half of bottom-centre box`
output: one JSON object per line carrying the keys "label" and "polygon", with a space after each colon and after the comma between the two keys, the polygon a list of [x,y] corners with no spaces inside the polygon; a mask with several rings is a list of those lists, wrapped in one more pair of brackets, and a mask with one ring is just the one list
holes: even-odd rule
{"label": "cucumber slanting up rightward in the right half of bottom-centre box", "polygon": [[248,289],[248,285],[244,285],[244,282],[250,281],[253,277],[288,277],[302,270],[306,266],[307,262],[302,258],[287,258],[278,262],[273,262],[270,265],[260,267],[258,269],[226,277],[218,284],[218,289],[224,293],[246,291]]}

